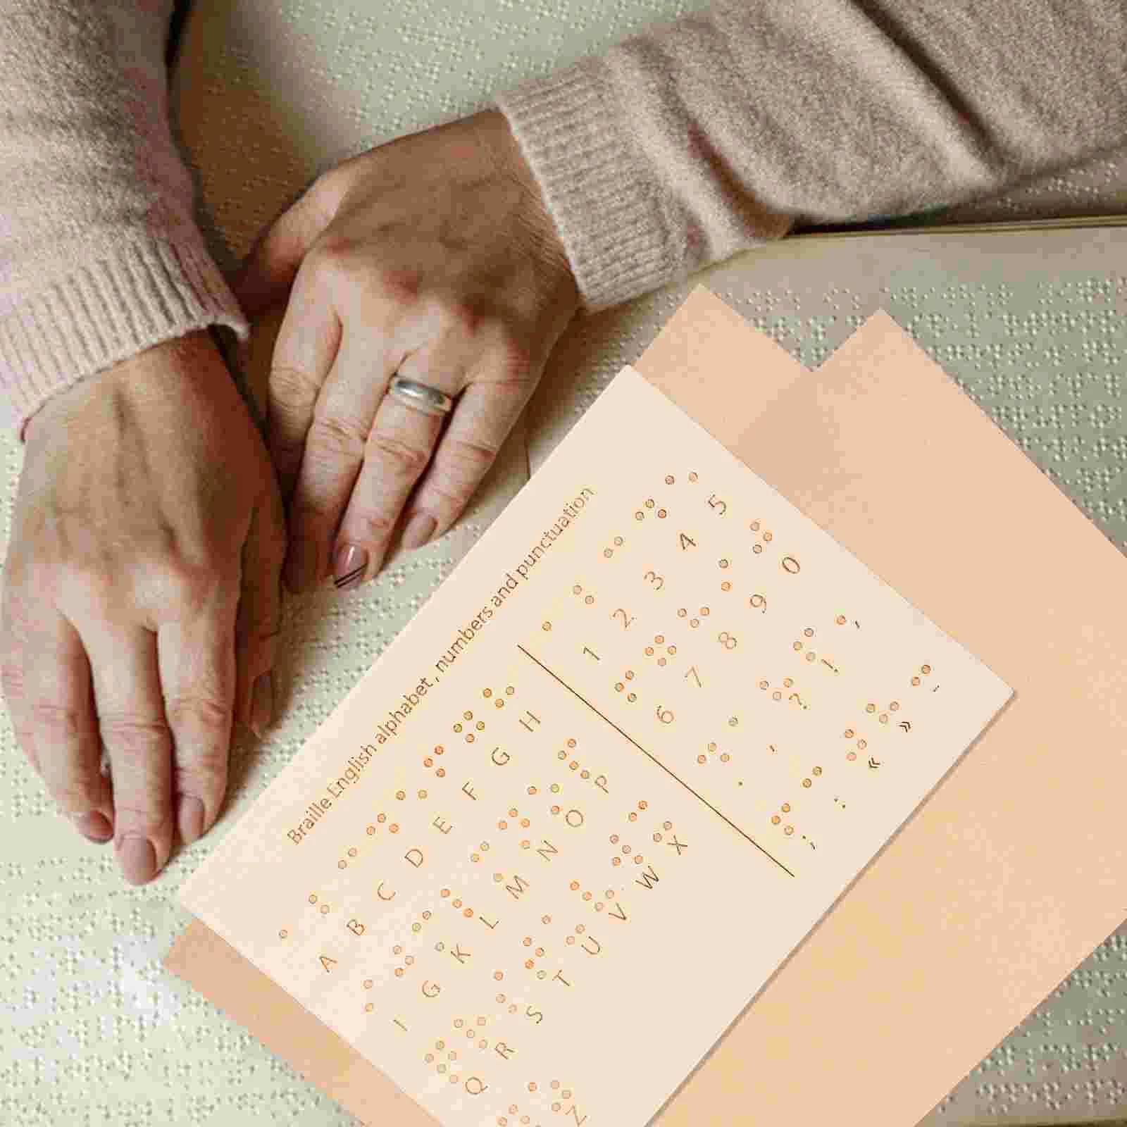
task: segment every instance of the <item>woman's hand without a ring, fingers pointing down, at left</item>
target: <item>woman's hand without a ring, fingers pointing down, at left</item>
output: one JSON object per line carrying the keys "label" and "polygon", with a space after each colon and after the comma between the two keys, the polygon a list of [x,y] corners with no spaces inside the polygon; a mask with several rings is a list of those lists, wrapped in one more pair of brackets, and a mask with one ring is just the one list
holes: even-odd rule
{"label": "woman's hand without a ring, fingers pointing down, at left", "polygon": [[60,392],[25,435],[3,693],[60,809],[92,841],[116,834],[143,884],[168,861],[174,818],[186,844],[215,820],[232,710],[269,721],[277,481],[205,330]]}

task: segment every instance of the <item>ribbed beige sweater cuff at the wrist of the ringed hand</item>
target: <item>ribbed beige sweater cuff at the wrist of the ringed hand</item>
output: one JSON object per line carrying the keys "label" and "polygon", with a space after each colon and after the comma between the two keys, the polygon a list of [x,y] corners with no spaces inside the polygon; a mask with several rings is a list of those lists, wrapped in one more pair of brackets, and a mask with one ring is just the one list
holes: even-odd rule
{"label": "ribbed beige sweater cuff at the wrist of the ringed hand", "polygon": [[654,179],[597,59],[494,98],[527,160],[588,310],[665,285],[681,266]]}

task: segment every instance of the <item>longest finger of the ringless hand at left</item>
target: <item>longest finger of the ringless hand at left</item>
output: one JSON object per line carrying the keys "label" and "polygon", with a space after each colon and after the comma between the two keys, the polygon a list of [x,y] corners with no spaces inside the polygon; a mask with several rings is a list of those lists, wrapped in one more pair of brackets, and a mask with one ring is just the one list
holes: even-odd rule
{"label": "longest finger of the ringless hand at left", "polygon": [[114,848],[125,879],[143,885],[172,849],[172,734],[165,718],[157,635],[78,623],[90,658],[101,742],[114,787]]}

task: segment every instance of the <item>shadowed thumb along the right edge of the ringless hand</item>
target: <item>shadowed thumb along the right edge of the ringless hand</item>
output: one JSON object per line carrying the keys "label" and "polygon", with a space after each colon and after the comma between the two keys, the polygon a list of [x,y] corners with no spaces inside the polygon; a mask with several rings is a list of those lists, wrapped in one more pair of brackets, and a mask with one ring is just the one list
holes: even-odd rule
{"label": "shadowed thumb along the right edge of the ringless hand", "polygon": [[274,715],[270,671],[282,629],[282,561],[285,558],[285,520],[277,489],[255,509],[242,548],[242,593],[236,621],[238,683],[236,715],[256,736]]}

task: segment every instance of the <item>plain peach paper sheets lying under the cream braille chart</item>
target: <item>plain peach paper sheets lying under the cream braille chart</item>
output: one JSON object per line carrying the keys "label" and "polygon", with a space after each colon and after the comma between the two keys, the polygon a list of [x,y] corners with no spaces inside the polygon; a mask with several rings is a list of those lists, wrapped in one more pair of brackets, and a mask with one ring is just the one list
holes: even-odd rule
{"label": "plain peach paper sheets lying under the cream braille chart", "polygon": [[[700,394],[706,385],[715,389],[719,367],[733,363],[762,373],[765,412],[753,403],[734,411]],[[1059,749],[1068,747],[1070,765],[1099,756],[1104,777],[1118,765],[1124,781],[1112,755],[1122,738],[1122,686],[1113,674],[1122,665],[1116,647],[1127,637],[1127,622],[1121,611],[1099,605],[1121,576],[1121,557],[881,313],[817,380],[797,380],[802,370],[789,355],[699,290],[637,367],[1017,689],[973,753],[662,1116],[663,1122],[754,1121],[771,1112],[793,1118],[801,1106],[809,1121],[844,1109],[864,1110],[878,1122],[915,1121],[1121,919],[1113,807],[1101,808],[1101,796],[1085,787],[1077,811],[1080,796],[1068,795],[1068,775],[1056,765]],[[710,414],[712,408],[719,409]],[[990,494],[973,486],[986,480],[984,461],[1004,489],[1004,511],[992,511]],[[1020,497],[1031,508],[1015,508]],[[1015,548],[1028,558],[1015,558]],[[1062,582],[1065,559],[1084,570],[1085,583]],[[983,560],[1001,570],[983,574]],[[1086,736],[1080,749],[1064,738],[1079,731]],[[1058,807],[1062,796],[1071,802]],[[1045,834],[1037,815],[1064,833]],[[1070,818],[1077,820],[1070,826]],[[1081,855],[1081,826],[1091,881],[1077,881],[1068,868]],[[1030,854],[1036,867],[1024,863]],[[749,931],[757,922],[748,920]],[[916,968],[926,950],[946,952],[950,974],[921,977]],[[415,1111],[405,1116],[414,1107],[408,1100],[389,1103],[396,1098],[387,1080],[203,925],[194,924],[177,943],[169,966],[362,1118],[374,1120],[393,1107],[397,1122],[426,1121]],[[294,1011],[305,1017],[283,1028]],[[931,1053],[912,1041],[925,1028],[922,1013],[930,1030],[944,1014],[953,1022]],[[859,1045],[863,1050],[851,1051]],[[798,1089],[810,1051],[819,1051],[833,1107],[828,1100],[819,1106],[819,1092]],[[623,1063],[628,1081],[644,1074],[644,1062],[631,1059]],[[879,1109],[869,1100],[881,1083],[876,1067],[880,1076],[911,1081],[891,1098],[886,1088]],[[867,1070],[867,1083],[858,1081]]]}

